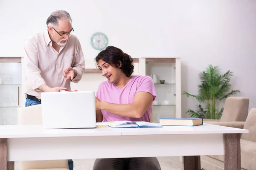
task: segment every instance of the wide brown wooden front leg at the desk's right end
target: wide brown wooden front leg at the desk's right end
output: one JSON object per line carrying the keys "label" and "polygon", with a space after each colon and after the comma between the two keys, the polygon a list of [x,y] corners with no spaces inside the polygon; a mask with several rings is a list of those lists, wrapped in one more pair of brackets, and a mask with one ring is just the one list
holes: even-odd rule
{"label": "wide brown wooden front leg at the desk's right end", "polygon": [[224,134],[224,170],[241,170],[240,133]]}

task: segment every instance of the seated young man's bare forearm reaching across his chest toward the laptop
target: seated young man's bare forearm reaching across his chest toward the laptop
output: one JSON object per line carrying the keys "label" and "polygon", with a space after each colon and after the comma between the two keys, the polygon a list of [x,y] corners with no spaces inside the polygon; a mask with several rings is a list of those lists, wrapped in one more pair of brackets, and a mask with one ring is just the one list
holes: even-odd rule
{"label": "seated young man's bare forearm reaching across his chest toward the laptop", "polygon": [[101,101],[101,109],[118,116],[140,118],[143,113],[138,112],[134,104],[113,104]]}

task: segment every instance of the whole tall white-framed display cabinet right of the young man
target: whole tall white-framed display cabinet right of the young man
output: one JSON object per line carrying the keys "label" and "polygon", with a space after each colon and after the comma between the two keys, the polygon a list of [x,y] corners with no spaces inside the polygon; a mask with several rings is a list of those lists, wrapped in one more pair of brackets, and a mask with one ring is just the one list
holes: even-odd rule
{"label": "whole tall white-framed display cabinet right of the young man", "polygon": [[[139,58],[139,75],[152,74],[157,76],[157,82],[154,82],[157,98],[153,102],[153,122],[159,122],[159,118],[181,117],[180,58]],[[160,80],[165,82],[161,84]]]}

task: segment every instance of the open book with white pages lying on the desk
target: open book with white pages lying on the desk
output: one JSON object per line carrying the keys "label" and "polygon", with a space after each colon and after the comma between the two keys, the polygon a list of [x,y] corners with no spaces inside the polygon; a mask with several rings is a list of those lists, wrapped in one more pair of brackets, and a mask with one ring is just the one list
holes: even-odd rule
{"label": "open book with white pages lying on the desk", "polygon": [[163,127],[161,125],[157,125],[155,123],[149,123],[149,122],[132,122],[132,121],[115,121],[115,122],[110,122],[109,127],[113,128],[122,128],[122,127]]}

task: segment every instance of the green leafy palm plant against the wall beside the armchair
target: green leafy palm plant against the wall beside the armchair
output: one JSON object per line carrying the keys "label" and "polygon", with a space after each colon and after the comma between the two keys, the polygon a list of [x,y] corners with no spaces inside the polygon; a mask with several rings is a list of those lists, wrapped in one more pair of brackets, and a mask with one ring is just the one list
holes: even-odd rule
{"label": "green leafy palm plant against the wall beside the armchair", "polygon": [[196,98],[200,103],[196,106],[196,111],[189,109],[186,113],[196,118],[220,119],[224,108],[219,108],[219,103],[240,92],[239,90],[230,91],[231,77],[233,77],[232,71],[221,75],[218,66],[209,65],[205,71],[199,74],[201,84],[198,85],[198,95],[183,92],[187,97]]}

